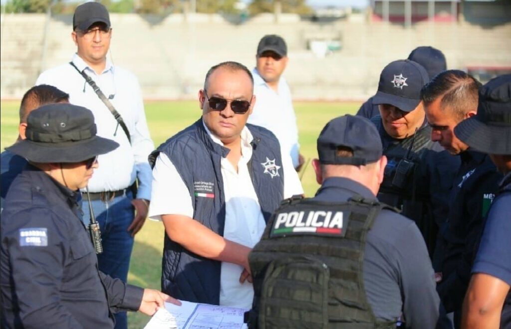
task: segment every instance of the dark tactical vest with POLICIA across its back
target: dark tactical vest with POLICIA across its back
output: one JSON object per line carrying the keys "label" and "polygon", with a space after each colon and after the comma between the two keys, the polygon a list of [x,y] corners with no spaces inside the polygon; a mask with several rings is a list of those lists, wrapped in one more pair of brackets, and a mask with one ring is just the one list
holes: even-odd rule
{"label": "dark tactical vest with POLICIA across its back", "polygon": [[249,328],[395,328],[379,322],[363,281],[367,232],[378,202],[285,200],[249,255]]}

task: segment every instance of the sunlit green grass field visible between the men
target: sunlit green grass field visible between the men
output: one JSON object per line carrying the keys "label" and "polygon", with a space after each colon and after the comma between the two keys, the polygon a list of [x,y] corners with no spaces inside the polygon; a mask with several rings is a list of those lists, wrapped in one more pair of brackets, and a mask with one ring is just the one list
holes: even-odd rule
{"label": "sunlit green grass field visible between the men", "polygon": [[[146,102],[145,105],[149,130],[155,146],[195,122],[200,116],[196,101],[158,101]],[[300,153],[306,159],[317,157],[316,139],[323,126],[334,117],[354,114],[359,105],[334,102],[295,103]],[[2,101],[0,106],[0,148],[3,150],[17,137],[19,101]],[[318,188],[310,163],[305,169],[302,184],[307,196],[313,196]],[[153,221],[147,221],[144,228],[136,235],[128,276],[129,283],[142,287],[160,288],[163,236],[163,226]],[[128,315],[130,328],[142,328],[147,321],[149,317],[140,313]]]}

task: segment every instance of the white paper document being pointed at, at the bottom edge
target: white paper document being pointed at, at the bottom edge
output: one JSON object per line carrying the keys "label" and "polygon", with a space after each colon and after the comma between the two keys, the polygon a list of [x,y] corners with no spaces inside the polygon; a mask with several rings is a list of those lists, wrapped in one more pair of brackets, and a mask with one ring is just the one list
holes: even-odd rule
{"label": "white paper document being pointed at, at the bottom edge", "polygon": [[159,309],[145,329],[246,329],[243,323],[246,311],[181,300],[181,306],[165,303],[165,309]]}

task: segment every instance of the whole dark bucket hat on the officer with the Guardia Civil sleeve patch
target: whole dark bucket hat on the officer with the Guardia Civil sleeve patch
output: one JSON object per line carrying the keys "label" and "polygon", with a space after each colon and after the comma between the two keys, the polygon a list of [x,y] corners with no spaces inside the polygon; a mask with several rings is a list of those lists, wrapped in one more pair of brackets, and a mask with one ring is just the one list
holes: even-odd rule
{"label": "whole dark bucket hat on the officer with the Guardia Civil sleeve patch", "polygon": [[119,144],[96,135],[89,109],[73,104],[48,104],[27,118],[27,139],[6,150],[29,161],[81,162],[116,149]]}

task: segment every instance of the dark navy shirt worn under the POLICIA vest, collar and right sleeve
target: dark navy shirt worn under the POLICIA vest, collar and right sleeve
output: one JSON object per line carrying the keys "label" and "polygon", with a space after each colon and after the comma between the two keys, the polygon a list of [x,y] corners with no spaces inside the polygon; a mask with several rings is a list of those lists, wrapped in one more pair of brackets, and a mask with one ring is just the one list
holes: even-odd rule
{"label": "dark navy shirt worn under the POLICIA vest, collar and right sleeve", "polygon": [[[367,187],[342,177],[324,180],[314,200],[344,202],[354,195],[377,201]],[[367,234],[363,278],[377,318],[396,320],[403,314],[407,327],[437,325],[440,300],[433,268],[422,234],[408,218],[387,209],[379,213]]]}

